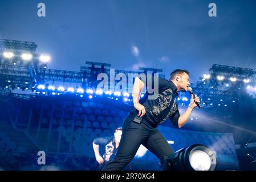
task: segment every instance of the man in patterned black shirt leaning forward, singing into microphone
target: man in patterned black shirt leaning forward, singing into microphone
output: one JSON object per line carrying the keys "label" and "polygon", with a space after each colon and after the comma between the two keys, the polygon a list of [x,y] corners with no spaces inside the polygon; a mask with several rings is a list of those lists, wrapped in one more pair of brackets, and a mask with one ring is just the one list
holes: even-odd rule
{"label": "man in patterned black shirt leaning forward, singing into microphone", "polygon": [[147,82],[135,77],[132,93],[135,109],[131,110],[124,120],[123,135],[115,158],[103,170],[124,169],[134,158],[140,144],[155,154],[161,163],[173,154],[172,148],[157,130],[157,126],[170,118],[174,126],[182,127],[200,100],[196,95],[196,98],[192,95],[188,109],[180,115],[175,97],[178,91],[188,91],[189,72],[186,70],[176,69],[170,73],[169,81],[159,77],[158,83],[159,94],[155,100],[150,100],[147,92],[139,101],[141,90],[144,86],[147,87]]}

